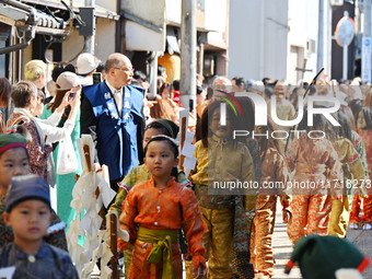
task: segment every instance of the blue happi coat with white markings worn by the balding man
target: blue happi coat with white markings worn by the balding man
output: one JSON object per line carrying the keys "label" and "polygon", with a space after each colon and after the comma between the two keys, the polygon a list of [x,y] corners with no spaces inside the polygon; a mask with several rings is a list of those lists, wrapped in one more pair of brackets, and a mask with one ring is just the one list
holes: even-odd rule
{"label": "blue happi coat with white markings worn by the balding man", "polygon": [[142,120],[142,89],[130,85],[123,88],[121,116],[106,82],[84,86],[83,93],[92,104],[96,118],[100,164],[108,166],[111,181],[124,177],[131,167],[138,165],[137,128]]}

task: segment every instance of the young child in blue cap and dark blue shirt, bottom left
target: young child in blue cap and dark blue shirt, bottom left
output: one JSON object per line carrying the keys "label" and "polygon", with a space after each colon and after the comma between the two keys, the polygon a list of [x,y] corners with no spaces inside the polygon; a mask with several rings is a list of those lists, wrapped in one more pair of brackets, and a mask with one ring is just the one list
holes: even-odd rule
{"label": "young child in blue cap and dark blue shirt, bottom left", "polygon": [[49,185],[36,175],[14,177],[8,189],[7,225],[14,232],[14,242],[0,251],[0,267],[15,267],[13,278],[78,279],[69,254],[44,241],[53,210]]}

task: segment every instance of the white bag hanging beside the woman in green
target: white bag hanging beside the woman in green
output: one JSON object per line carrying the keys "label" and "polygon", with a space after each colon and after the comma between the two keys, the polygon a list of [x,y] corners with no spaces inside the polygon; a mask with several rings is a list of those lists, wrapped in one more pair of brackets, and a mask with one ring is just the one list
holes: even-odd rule
{"label": "white bag hanging beside the woman in green", "polygon": [[59,141],[57,154],[57,174],[74,173],[79,168],[79,162],[71,137],[65,137]]}

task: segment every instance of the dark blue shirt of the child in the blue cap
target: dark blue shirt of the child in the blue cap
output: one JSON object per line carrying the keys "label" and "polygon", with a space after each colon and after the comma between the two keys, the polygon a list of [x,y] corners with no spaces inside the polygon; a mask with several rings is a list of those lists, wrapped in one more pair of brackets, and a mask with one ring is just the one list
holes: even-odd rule
{"label": "dark blue shirt of the child in the blue cap", "polygon": [[18,279],[79,279],[69,254],[45,242],[36,255],[25,254],[15,243],[4,245],[0,249],[0,268],[11,266]]}

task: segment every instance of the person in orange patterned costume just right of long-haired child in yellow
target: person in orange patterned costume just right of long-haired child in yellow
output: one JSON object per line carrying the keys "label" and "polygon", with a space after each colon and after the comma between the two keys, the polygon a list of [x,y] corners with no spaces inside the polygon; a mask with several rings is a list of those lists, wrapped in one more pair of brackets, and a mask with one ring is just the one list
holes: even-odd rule
{"label": "person in orange patterned costume just right of long-haired child in yellow", "polygon": [[[274,123],[268,117],[268,126],[257,127],[257,133],[269,135],[274,130]],[[256,255],[251,256],[252,263],[257,267],[258,278],[274,276],[272,234],[279,197],[282,206],[282,220],[287,223],[290,218],[290,197],[287,195],[286,185],[290,178],[283,151],[274,138],[258,137],[261,160],[261,185],[256,200],[255,237]],[[271,185],[270,185],[271,184]],[[275,186],[272,186],[275,185]]]}

